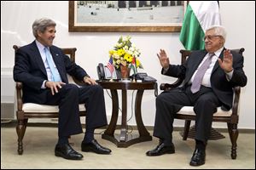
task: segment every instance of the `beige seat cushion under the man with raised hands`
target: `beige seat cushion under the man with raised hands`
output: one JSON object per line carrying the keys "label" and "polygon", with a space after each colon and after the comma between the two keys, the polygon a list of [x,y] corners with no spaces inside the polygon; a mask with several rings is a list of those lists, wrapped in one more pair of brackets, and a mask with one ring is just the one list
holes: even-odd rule
{"label": "beige seat cushion under the man with raised hands", "polygon": [[[195,116],[195,112],[193,111],[192,106],[183,106],[183,108],[177,112],[177,114],[181,115],[191,115]],[[231,116],[232,110],[223,111],[220,107],[218,107],[218,111],[213,114],[213,116]]]}

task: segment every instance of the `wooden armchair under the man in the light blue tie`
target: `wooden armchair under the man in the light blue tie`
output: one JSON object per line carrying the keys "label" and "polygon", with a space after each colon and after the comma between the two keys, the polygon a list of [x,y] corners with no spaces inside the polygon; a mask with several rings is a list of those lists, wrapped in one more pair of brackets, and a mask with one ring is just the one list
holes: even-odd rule
{"label": "wooden armchair under the man in the light blue tie", "polygon": [[[19,49],[14,45],[15,52]],[[75,62],[75,52],[77,48],[62,48],[63,53],[70,56],[72,62]],[[73,77],[67,75],[69,83],[75,83],[82,85],[82,82],[75,80]],[[17,126],[16,132],[18,135],[18,153],[23,154],[23,142],[22,139],[26,132],[26,125],[28,118],[56,118],[58,117],[59,108],[58,105],[38,105],[34,103],[23,103],[22,101],[22,82],[16,82],[16,117]],[[86,109],[84,104],[79,105],[80,116],[85,116]]]}

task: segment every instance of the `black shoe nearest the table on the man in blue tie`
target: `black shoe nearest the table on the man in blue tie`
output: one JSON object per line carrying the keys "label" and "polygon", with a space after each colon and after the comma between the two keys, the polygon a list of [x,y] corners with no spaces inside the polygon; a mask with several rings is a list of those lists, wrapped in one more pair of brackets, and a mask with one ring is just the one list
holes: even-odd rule
{"label": "black shoe nearest the table on the man in blue tie", "polygon": [[110,154],[111,150],[108,148],[103,147],[101,144],[99,144],[96,139],[91,140],[90,143],[84,143],[81,144],[82,151],[92,151],[97,154]]}

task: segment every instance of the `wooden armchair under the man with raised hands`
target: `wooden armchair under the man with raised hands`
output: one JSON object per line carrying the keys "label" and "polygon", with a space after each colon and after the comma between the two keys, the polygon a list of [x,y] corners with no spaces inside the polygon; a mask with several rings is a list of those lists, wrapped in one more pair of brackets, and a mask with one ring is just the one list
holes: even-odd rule
{"label": "wooden armchair under the man with raised hands", "polygon": [[[236,53],[239,53],[242,55],[244,52],[244,48],[240,49],[232,49],[231,51],[234,51]],[[189,50],[180,50],[180,53],[182,54],[181,58],[181,64],[184,65],[186,59],[189,57],[189,54],[191,54],[192,51]],[[160,89],[161,90],[170,90],[172,88],[177,88],[181,83],[183,82],[182,78],[177,79],[176,82],[172,84],[168,83],[162,83],[160,84]],[[228,132],[230,134],[230,140],[231,140],[231,158],[236,159],[236,140],[238,137],[238,129],[237,129],[237,124],[238,124],[238,106],[239,106],[239,97],[240,97],[240,87],[235,87],[234,88],[234,100],[233,100],[233,107],[231,108],[230,111],[223,111],[221,110],[220,107],[218,107],[218,111],[214,113],[212,122],[226,122],[228,126]],[[185,125],[184,125],[184,131],[183,131],[183,140],[186,140],[188,138],[188,135],[191,134],[189,133],[189,127],[190,127],[190,122],[195,121],[195,112],[193,111],[192,106],[184,106],[180,111],[175,114],[175,118],[177,119],[183,119],[185,120]],[[194,129],[195,130],[195,129]],[[190,129],[191,131],[191,129]],[[210,139],[221,139],[216,137],[216,131],[212,131]],[[191,134],[193,136],[193,133]]]}

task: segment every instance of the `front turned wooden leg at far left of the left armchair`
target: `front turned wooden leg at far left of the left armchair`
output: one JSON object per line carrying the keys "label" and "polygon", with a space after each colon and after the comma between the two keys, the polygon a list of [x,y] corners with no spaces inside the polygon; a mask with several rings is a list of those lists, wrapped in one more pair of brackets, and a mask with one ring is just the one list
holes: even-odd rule
{"label": "front turned wooden leg at far left of the left armchair", "polygon": [[16,133],[18,135],[18,154],[23,154],[23,142],[22,139],[24,137],[26,131],[27,119],[18,120],[18,124],[16,126]]}

